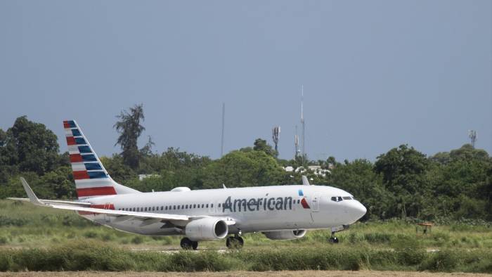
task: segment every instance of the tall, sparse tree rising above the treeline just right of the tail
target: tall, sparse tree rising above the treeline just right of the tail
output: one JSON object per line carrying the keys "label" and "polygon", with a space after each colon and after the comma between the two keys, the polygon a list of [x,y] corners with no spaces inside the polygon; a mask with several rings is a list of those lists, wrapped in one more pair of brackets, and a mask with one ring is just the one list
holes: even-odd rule
{"label": "tall, sparse tree rising above the treeline just right of the tail", "polygon": [[115,146],[119,144],[122,148],[121,155],[123,156],[123,162],[125,165],[136,169],[141,160],[141,152],[138,150],[138,137],[145,130],[140,122],[145,120],[143,115],[143,104],[134,105],[130,108],[130,112],[122,110],[117,115],[119,121],[114,125],[116,131],[119,133],[118,140]]}

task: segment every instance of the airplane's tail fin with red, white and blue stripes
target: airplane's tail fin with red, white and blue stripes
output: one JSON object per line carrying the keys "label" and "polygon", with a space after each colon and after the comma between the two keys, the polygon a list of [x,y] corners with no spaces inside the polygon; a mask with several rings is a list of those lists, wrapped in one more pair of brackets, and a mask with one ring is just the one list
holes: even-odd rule
{"label": "airplane's tail fin with red, white and blue stripes", "polygon": [[79,199],[139,192],[111,179],[75,120],[63,121],[63,127]]}

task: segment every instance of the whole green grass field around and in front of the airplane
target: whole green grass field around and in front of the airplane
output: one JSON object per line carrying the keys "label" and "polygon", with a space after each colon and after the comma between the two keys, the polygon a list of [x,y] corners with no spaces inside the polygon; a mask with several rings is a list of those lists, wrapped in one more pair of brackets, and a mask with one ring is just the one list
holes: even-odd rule
{"label": "whole green grass field around and in front of the airplane", "polygon": [[[492,273],[492,226],[436,225],[426,235],[406,221],[357,223],[337,233],[309,231],[299,240],[247,234],[241,251],[219,253],[224,240],[179,250],[180,237],[147,237],[97,226],[74,212],[0,201],[0,271],[403,270]],[[143,250],[143,251],[134,251]],[[104,257],[104,259],[101,259]]]}

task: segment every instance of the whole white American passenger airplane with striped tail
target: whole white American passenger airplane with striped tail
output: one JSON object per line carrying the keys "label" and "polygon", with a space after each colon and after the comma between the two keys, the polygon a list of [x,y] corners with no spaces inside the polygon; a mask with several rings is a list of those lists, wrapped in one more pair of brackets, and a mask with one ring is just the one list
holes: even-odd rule
{"label": "whole white American passenger airplane with striped tail", "polygon": [[353,195],[331,186],[257,186],[143,193],[114,181],[75,120],[63,122],[78,200],[39,200],[21,177],[34,205],[72,210],[119,231],[147,236],[183,236],[181,247],[196,250],[204,240],[226,238],[228,248],[244,245],[243,233],[294,240],[307,230],[343,231],[366,212]]}

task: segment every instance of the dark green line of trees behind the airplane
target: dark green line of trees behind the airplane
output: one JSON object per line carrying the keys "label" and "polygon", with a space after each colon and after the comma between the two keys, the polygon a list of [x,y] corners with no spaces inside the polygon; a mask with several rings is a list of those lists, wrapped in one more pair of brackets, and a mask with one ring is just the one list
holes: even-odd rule
{"label": "dark green line of trees behind the airplane", "polygon": [[[266,141],[257,139],[252,147],[212,160],[179,148],[154,153],[150,138],[143,148],[136,148],[136,140],[144,129],[143,110],[139,107],[122,112],[115,124],[122,153],[101,157],[115,181],[138,191],[169,191],[176,186],[221,188],[223,183],[228,187],[296,184],[306,174],[311,183],[352,193],[368,207],[365,219],[492,221],[492,158],[485,150],[469,144],[431,157],[401,145],[380,155],[375,162],[338,162],[334,157],[318,161],[300,157],[280,160]],[[286,172],[283,168],[302,167],[303,161],[304,172]],[[318,165],[330,172],[325,176],[315,174],[308,165]],[[138,174],[155,175],[139,181]],[[19,176],[30,181],[40,198],[76,197],[67,153],[59,153],[56,135],[44,124],[31,122],[27,117],[19,117],[6,131],[0,129],[0,198],[25,197]]]}

